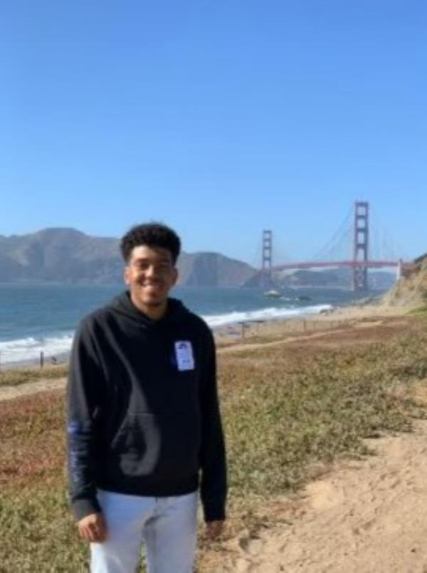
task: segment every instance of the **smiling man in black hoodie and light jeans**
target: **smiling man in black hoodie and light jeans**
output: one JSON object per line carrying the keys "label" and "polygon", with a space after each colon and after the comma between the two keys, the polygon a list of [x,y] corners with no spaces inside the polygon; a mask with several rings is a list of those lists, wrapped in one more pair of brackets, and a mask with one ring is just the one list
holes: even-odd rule
{"label": "smiling man in black hoodie and light jeans", "polygon": [[169,298],[179,237],[161,224],[122,238],[128,290],[76,332],[68,379],[70,495],[93,573],[190,573],[197,490],[214,538],[226,461],[209,328]]}

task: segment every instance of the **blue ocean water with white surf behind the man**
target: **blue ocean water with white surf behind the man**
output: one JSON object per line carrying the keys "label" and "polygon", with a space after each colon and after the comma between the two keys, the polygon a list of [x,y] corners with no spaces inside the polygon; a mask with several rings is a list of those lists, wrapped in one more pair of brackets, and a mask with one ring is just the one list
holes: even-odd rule
{"label": "blue ocean water with white surf behind the man", "polygon": [[[36,360],[41,351],[48,359],[67,354],[80,319],[122,290],[122,285],[0,284],[0,364]],[[357,293],[325,288],[286,289],[281,294],[268,299],[257,288],[172,291],[212,328],[316,313],[357,298]]]}

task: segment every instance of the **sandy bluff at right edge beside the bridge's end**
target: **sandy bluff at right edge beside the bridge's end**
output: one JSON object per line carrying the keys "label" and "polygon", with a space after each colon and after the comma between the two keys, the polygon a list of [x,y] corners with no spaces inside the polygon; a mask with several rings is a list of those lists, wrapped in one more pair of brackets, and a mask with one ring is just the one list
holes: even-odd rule
{"label": "sandy bluff at right edge beside the bridge's end", "polygon": [[427,253],[381,298],[387,306],[421,306],[427,303]]}

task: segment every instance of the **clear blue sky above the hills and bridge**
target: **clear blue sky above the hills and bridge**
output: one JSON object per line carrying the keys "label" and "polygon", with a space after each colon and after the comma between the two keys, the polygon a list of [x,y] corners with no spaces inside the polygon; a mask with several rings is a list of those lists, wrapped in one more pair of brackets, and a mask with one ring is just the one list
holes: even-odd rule
{"label": "clear blue sky above the hills and bridge", "polygon": [[423,0],[13,0],[0,7],[0,234],[292,258],[367,199],[427,251]]}

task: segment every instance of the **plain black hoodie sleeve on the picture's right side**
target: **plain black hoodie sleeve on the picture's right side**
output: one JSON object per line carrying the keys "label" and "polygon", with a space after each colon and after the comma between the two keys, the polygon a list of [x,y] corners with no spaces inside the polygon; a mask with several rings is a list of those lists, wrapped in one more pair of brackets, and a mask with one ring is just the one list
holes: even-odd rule
{"label": "plain black hoodie sleeve on the picture's right side", "polygon": [[201,389],[201,503],[206,522],[226,518],[226,451],[216,387],[214,337],[208,331]]}

